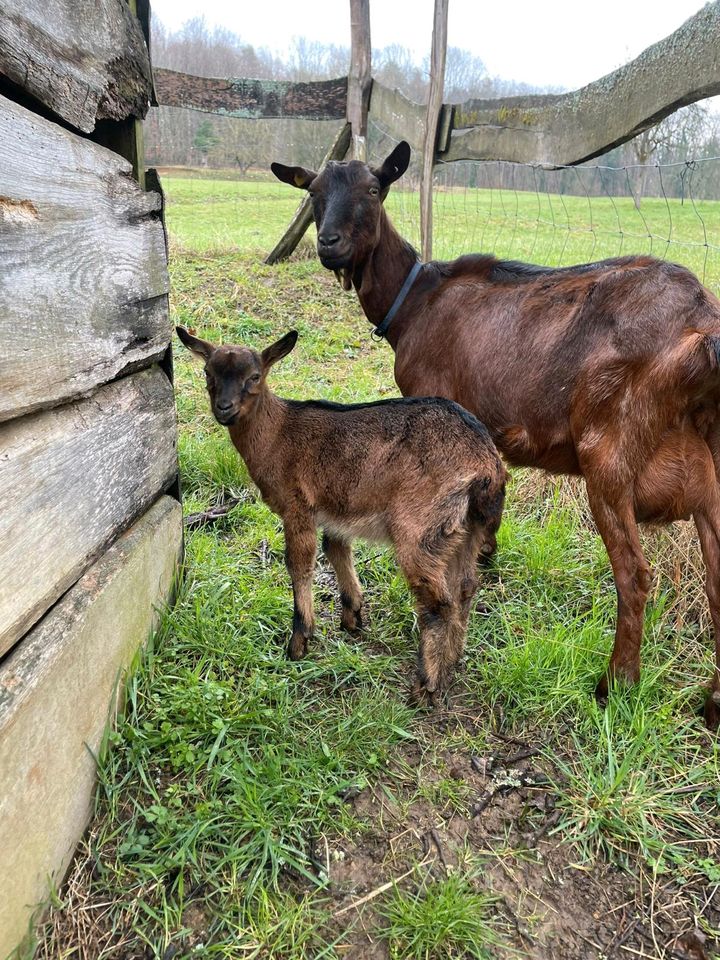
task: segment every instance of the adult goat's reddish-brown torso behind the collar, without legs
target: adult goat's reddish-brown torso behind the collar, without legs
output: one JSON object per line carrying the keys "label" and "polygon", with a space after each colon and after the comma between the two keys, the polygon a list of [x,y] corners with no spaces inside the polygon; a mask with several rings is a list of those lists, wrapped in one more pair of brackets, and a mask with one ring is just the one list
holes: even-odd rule
{"label": "adult goat's reddish-brown torso behind the collar, without legs", "polygon": [[398,385],[462,403],[513,463],[577,472],[574,416],[655,404],[649,419],[664,423],[708,392],[720,396],[700,342],[720,337],[720,303],[684,267],[646,256],[556,269],[481,256],[434,266],[434,287],[396,348]]}

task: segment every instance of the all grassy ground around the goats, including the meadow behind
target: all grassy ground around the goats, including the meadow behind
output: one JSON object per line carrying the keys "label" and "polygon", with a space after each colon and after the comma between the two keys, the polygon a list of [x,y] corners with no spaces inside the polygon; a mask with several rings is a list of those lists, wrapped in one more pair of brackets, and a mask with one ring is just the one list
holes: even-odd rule
{"label": "all grassy ground around the goats, including the meadow behind", "polygon": [[[273,373],[281,394],[397,393],[390,350],[307,245],[263,265],[296,195],[179,178],[165,187],[175,322],[253,345],[298,329]],[[535,195],[504,220],[497,194],[491,210],[475,193],[439,194],[437,255],[618,252],[615,214],[600,201],[590,250],[585,200],[550,198],[576,224],[553,232],[538,224]],[[389,204],[408,235],[413,200]],[[653,230],[663,209],[643,202]],[[718,209],[703,205],[715,240]],[[672,208],[674,238],[698,242],[697,222]],[[648,249],[625,229],[623,252]],[[671,255],[700,269],[706,250]],[[706,279],[717,287],[716,259]],[[720,751],[697,716],[711,656],[688,525],[646,537],[657,575],[643,680],[601,710],[591,693],[615,615],[602,543],[577,485],[516,473],[450,709],[413,710],[413,609],[384,549],[356,550],[367,637],[340,631],[321,557],[313,649],[284,659],[292,599],[280,523],[181,348],[176,378],[186,512],[239,503],[187,535],[178,601],[129,680],[95,818],[35,956],[720,956]]]}

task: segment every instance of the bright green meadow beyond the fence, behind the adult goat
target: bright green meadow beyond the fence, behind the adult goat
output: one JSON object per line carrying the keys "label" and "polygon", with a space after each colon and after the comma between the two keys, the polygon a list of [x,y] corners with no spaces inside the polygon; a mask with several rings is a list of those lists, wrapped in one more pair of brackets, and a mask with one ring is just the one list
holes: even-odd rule
{"label": "bright green meadow beyond the fence, behind the adult goat", "polygon": [[[265,255],[304,196],[277,181],[168,177],[173,239],[194,251],[255,250]],[[417,194],[395,188],[393,222],[420,247]],[[720,289],[720,204],[715,201],[575,197],[531,191],[440,188],[433,201],[437,259],[472,251],[551,265],[629,253],[677,260]],[[310,227],[303,249],[314,243]]]}

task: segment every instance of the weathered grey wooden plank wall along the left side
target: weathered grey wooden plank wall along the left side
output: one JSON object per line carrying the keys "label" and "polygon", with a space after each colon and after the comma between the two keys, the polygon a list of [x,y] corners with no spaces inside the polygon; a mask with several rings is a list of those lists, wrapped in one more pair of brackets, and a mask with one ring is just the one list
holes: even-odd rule
{"label": "weathered grey wooden plank wall along the left side", "polygon": [[2,958],[62,880],[88,747],[181,550],[147,23],[128,3],[0,4]]}

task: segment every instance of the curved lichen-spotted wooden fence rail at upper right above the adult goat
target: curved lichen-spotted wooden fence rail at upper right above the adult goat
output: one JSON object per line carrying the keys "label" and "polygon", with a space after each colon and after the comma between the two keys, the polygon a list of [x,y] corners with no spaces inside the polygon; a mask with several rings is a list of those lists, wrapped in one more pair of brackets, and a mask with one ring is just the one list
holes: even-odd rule
{"label": "curved lichen-spotted wooden fence rail at upper right above the adult goat", "polygon": [[459,104],[443,159],[582,163],[637,136],[679,107],[717,94],[716,0],[631,63],[580,90]]}

